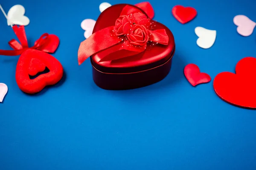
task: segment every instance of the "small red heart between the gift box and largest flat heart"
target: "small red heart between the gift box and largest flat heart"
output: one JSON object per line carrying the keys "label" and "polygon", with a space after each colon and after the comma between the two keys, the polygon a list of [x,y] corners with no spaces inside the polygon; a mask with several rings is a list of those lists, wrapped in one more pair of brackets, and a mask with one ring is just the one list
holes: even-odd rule
{"label": "small red heart between the gift box and largest flat heart", "polygon": [[201,73],[200,69],[195,64],[188,64],[184,68],[184,74],[186,79],[192,86],[196,86],[201,83],[207,83],[211,81],[209,74]]}

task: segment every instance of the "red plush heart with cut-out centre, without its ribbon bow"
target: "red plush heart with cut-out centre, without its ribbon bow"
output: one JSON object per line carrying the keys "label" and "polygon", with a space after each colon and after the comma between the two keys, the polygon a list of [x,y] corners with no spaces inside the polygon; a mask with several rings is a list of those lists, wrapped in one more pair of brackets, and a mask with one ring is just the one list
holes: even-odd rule
{"label": "red plush heart with cut-out centre, without its ribbon bow", "polygon": [[[30,74],[37,74],[47,67],[49,72],[30,79]],[[30,75],[30,76],[33,76]],[[28,94],[38,93],[47,85],[54,85],[61,80],[63,68],[61,63],[43,51],[28,49],[18,60],[16,67],[16,81],[20,90]]]}

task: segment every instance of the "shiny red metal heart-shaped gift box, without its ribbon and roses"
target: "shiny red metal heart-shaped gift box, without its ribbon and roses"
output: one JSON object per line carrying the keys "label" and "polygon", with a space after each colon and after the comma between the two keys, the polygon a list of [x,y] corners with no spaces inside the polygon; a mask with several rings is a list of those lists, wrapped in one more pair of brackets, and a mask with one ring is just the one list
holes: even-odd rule
{"label": "shiny red metal heart-shaped gift box, without its ribbon and roses", "polygon": [[[93,33],[114,26],[122,9],[127,5],[118,4],[105,9],[96,21]],[[140,9],[136,6],[132,7]],[[147,16],[143,10],[140,9],[140,11]],[[163,24],[151,22],[155,29],[166,30],[169,44],[153,45],[151,43],[140,54],[113,61],[99,62],[101,53],[92,55],[90,61],[93,66],[93,80],[96,85],[108,90],[126,90],[151,85],[167,76],[175,53],[174,37],[172,32]]]}

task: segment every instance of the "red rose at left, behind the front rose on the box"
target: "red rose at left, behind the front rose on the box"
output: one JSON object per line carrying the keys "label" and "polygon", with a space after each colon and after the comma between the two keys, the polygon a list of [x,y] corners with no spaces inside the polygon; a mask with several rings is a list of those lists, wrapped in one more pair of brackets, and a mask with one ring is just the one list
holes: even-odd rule
{"label": "red rose at left, behind the front rose on the box", "polygon": [[125,35],[131,29],[131,18],[127,15],[122,15],[116,20],[116,24],[114,26],[114,31],[116,35]]}

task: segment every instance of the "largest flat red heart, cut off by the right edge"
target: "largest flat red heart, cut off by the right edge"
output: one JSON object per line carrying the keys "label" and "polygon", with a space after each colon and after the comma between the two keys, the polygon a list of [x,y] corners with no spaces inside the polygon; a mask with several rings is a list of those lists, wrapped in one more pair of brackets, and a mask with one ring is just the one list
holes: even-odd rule
{"label": "largest flat red heart, cut off by the right edge", "polygon": [[236,64],[236,74],[222,72],[213,81],[216,94],[232,105],[256,109],[256,58],[245,57]]}

